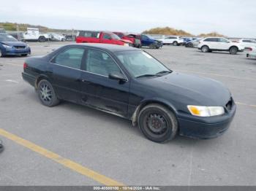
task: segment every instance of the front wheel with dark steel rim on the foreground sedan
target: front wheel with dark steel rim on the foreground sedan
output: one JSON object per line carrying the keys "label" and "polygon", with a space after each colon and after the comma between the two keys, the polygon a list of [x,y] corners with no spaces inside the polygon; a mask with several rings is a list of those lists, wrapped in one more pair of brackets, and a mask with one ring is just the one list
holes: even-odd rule
{"label": "front wheel with dark steel rim on the foreground sedan", "polygon": [[149,104],[141,109],[138,126],[147,139],[164,143],[176,136],[178,121],[176,115],[165,106]]}

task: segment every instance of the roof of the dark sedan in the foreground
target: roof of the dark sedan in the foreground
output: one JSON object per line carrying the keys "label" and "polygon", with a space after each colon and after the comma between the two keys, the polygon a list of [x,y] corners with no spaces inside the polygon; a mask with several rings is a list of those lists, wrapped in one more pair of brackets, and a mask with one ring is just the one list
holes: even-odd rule
{"label": "roof of the dark sedan in the foreground", "polygon": [[76,47],[91,47],[97,48],[100,50],[108,50],[110,52],[119,52],[119,51],[129,51],[129,50],[140,50],[135,47],[127,47],[116,44],[102,44],[102,43],[76,43],[76,44],[68,44],[65,47],[76,46]]}

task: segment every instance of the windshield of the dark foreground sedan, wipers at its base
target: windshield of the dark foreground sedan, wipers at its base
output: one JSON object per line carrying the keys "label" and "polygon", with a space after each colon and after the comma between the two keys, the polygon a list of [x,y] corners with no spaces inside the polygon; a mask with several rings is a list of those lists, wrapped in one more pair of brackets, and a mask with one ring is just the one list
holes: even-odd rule
{"label": "windshield of the dark foreground sedan, wipers at its base", "polygon": [[133,77],[159,77],[169,74],[162,63],[143,51],[121,51],[116,56]]}

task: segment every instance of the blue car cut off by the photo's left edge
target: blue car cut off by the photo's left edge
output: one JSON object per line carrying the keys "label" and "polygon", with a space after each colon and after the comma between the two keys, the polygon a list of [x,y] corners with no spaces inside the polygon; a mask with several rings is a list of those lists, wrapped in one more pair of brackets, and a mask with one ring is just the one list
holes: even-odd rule
{"label": "blue car cut off by the photo's left edge", "polygon": [[31,50],[28,44],[19,42],[10,34],[0,34],[0,57],[5,55],[29,55]]}

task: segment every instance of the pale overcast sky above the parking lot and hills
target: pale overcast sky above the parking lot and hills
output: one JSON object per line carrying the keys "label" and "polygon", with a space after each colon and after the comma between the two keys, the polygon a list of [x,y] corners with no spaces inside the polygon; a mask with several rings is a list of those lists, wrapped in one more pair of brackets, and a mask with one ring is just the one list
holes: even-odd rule
{"label": "pale overcast sky above the parking lot and hills", "polygon": [[255,19],[255,0],[12,0],[0,6],[0,22],[61,29],[142,32],[170,26],[191,34],[256,37]]}

